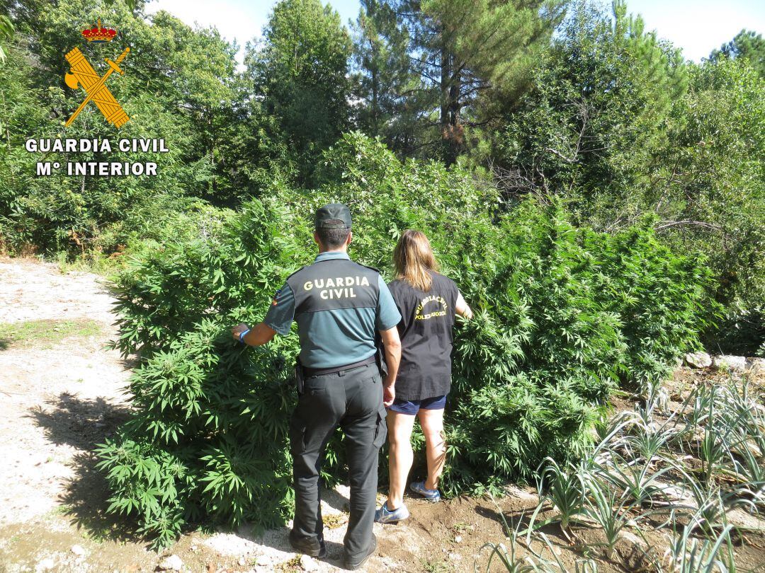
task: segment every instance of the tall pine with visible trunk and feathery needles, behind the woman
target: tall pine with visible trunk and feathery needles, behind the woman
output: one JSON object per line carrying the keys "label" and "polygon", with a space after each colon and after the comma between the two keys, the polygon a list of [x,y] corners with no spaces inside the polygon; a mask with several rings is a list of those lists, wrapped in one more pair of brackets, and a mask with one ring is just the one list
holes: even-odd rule
{"label": "tall pine with visible trunk and feathery needles, behind the woman", "polygon": [[508,96],[528,80],[534,54],[562,18],[561,0],[391,0],[409,31],[419,86],[409,97],[420,112],[416,147],[454,163],[487,91]]}

